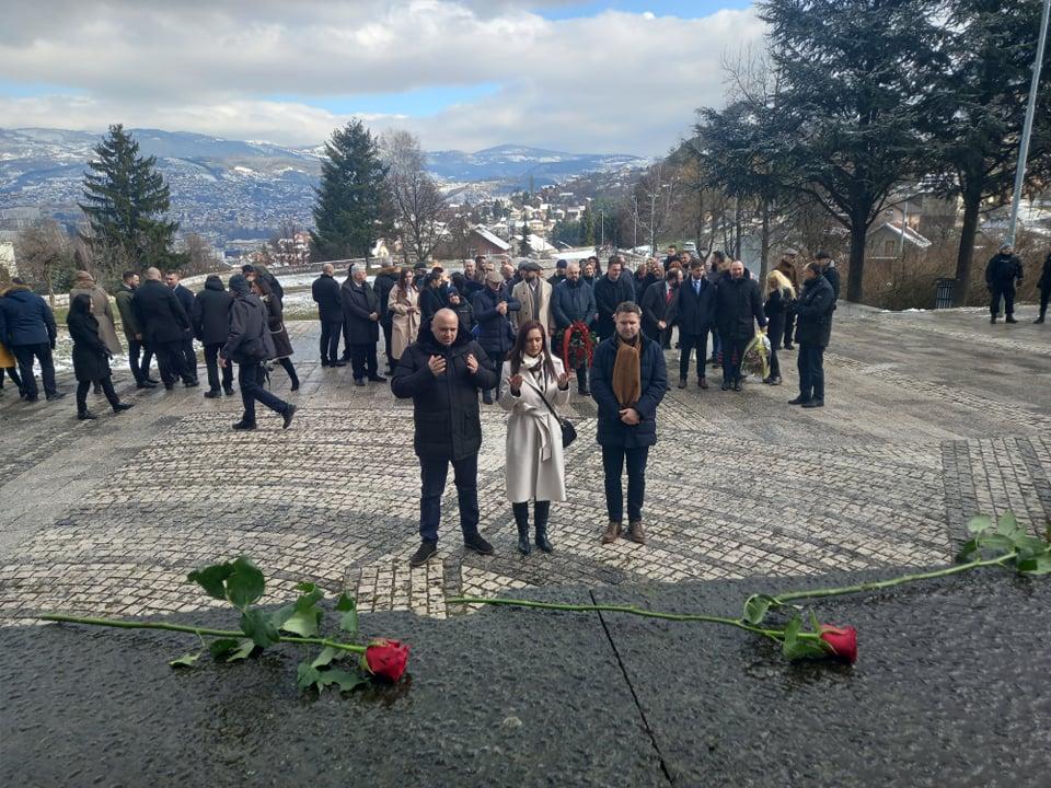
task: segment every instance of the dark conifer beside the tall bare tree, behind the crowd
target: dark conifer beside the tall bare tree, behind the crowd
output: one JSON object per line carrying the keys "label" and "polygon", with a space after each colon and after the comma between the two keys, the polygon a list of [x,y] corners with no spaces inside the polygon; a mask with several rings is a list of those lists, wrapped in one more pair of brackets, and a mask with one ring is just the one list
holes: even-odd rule
{"label": "dark conifer beside the tall bare tree, behind the crowd", "polygon": [[314,189],[315,260],[368,258],[390,227],[385,177],[379,146],[365,124],[351,120],[332,132]]}

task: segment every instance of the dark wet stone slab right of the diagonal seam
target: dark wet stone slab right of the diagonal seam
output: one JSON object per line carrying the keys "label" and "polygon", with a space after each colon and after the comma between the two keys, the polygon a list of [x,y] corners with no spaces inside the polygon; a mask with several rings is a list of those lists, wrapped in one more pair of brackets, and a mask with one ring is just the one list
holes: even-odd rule
{"label": "dark wet stone slab right of the diagonal seam", "polygon": [[[870,576],[869,576],[870,577]],[[857,575],[596,590],[603,603],[739,615],[755,591]],[[603,621],[674,785],[1047,786],[1051,582],[1005,571],[827,600],[856,665],[789,664],[747,633]]]}

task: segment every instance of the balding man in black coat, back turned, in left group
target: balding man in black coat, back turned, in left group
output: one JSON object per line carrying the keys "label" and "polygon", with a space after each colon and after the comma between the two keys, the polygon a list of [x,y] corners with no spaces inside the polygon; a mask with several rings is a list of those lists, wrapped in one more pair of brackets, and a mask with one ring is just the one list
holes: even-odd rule
{"label": "balding man in black coat, back turned, in left group", "polygon": [[183,345],[189,331],[189,317],[178,302],[174,291],[161,281],[161,271],[146,269],[146,281],[135,291],[131,305],[142,326],[146,344],[157,354],[157,366],[161,368],[161,381],[171,391],[175,380],[183,379],[183,385],[192,389],[197,385],[186,369]]}

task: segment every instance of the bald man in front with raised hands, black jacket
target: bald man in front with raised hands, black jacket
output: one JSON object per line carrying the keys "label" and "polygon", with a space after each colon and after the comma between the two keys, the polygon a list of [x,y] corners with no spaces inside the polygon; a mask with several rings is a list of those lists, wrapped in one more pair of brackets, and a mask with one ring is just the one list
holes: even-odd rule
{"label": "bald man in front with raised hands, black jacket", "polygon": [[460,318],[449,309],[439,310],[420,325],[417,340],[399,360],[391,390],[394,396],[413,401],[413,448],[423,479],[420,545],[409,559],[411,566],[426,564],[438,551],[441,496],[450,463],[463,544],[482,555],[493,553],[493,545],[478,533],[478,390],[493,389],[498,382],[499,374],[489,366],[485,351],[461,331]]}

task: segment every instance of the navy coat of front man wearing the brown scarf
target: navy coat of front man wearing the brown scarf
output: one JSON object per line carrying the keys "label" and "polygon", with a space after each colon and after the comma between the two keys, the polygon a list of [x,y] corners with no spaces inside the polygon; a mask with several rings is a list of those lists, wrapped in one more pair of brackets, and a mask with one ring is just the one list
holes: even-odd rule
{"label": "navy coat of front man wearing the brown scarf", "polygon": [[599,343],[591,367],[591,396],[599,405],[599,425],[596,439],[599,445],[638,449],[657,442],[657,406],[668,392],[668,370],[660,345],[639,334],[643,343],[639,368],[642,396],[628,407],[638,412],[642,420],[634,426],[621,421],[621,405],[613,394],[613,366],[620,338],[615,335]]}

